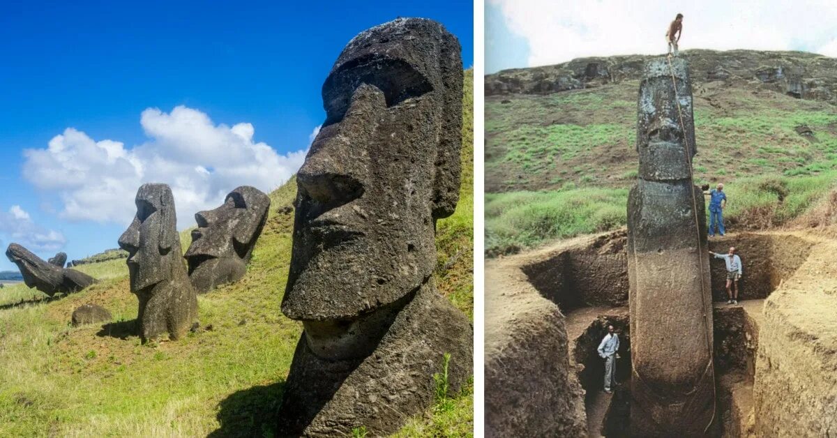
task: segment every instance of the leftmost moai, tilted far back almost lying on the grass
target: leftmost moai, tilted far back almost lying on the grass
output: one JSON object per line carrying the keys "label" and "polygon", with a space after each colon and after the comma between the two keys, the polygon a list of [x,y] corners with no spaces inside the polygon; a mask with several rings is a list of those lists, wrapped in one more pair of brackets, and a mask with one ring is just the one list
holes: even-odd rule
{"label": "leftmost moai, tilted far back almost lying on the grass", "polygon": [[49,296],[59,292],[66,294],[80,291],[95,283],[93,277],[74,269],[59,268],[47,263],[18,244],[8,245],[6,256],[18,265],[26,286],[34,287]]}

